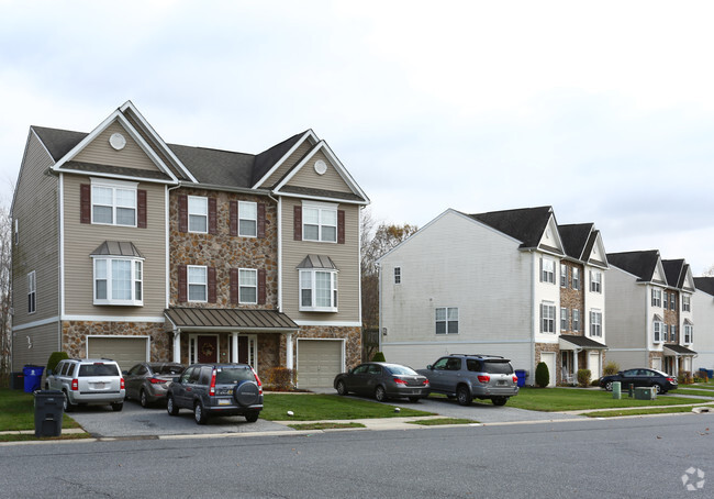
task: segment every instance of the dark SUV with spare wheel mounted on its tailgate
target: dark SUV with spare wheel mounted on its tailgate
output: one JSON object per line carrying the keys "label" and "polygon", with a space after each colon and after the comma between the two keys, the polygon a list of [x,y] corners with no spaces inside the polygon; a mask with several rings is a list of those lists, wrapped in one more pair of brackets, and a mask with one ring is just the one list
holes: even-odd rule
{"label": "dark SUV with spare wheel mounted on its tailgate", "polygon": [[247,364],[194,364],[174,378],[166,393],[166,410],[177,415],[191,409],[196,422],[211,415],[245,415],[255,423],[263,410],[263,385]]}

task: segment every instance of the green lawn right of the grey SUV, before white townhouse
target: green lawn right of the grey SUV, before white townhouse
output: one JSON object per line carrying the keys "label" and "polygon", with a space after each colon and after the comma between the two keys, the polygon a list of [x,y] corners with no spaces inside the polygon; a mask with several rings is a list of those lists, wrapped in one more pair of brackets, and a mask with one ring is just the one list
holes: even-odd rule
{"label": "green lawn right of the grey SUV, before white townhouse", "polygon": [[705,403],[711,400],[689,399],[682,397],[658,397],[656,400],[635,400],[623,392],[620,400],[612,398],[612,392],[573,388],[521,388],[518,395],[511,397],[507,404],[532,411],[578,411],[588,409],[616,409],[624,407],[677,406],[684,403]]}

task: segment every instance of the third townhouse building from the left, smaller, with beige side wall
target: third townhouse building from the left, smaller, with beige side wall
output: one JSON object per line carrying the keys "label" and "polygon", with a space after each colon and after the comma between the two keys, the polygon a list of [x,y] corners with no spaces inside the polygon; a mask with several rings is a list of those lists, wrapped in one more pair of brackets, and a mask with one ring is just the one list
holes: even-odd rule
{"label": "third townhouse building from the left, smaller, with beige side wall", "polygon": [[609,253],[606,295],[610,351],[621,368],[692,370],[694,279],[683,259],[659,251]]}

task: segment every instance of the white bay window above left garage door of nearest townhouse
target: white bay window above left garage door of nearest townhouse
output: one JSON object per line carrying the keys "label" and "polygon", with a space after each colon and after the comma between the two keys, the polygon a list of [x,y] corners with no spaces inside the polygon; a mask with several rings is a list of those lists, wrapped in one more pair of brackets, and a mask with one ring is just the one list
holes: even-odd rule
{"label": "white bay window above left garage door of nearest townhouse", "polygon": [[142,306],[143,260],[94,258],[94,304]]}

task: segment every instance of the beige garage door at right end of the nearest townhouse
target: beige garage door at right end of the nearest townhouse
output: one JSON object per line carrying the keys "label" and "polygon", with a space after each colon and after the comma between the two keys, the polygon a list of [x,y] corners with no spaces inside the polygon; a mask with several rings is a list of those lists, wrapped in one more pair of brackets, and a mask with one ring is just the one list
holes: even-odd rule
{"label": "beige garage door at right end of the nearest townhouse", "polygon": [[300,388],[328,388],[342,373],[343,342],[298,340],[298,385]]}

